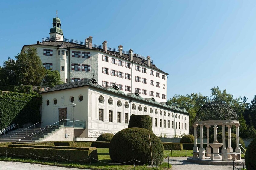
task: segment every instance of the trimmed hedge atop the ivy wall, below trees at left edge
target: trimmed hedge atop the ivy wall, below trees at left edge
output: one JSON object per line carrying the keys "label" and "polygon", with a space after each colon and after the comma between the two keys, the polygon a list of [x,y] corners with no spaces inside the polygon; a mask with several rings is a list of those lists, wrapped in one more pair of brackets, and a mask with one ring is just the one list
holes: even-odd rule
{"label": "trimmed hedge atop the ivy wall, below trees at left edge", "polygon": [[0,90],[32,94],[33,86],[32,85],[8,85],[8,86],[0,86]]}

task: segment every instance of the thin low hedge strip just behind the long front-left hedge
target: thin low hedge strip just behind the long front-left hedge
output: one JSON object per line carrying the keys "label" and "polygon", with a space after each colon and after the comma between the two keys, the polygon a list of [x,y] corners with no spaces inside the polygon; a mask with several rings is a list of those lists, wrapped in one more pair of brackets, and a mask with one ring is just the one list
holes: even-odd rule
{"label": "thin low hedge strip just behind the long front-left hedge", "polygon": [[92,148],[92,147],[66,147],[66,146],[28,145],[28,144],[9,144],[9,147],[34,147],[34,148],[77,149],[77,150],[96,149],[96,148]]}

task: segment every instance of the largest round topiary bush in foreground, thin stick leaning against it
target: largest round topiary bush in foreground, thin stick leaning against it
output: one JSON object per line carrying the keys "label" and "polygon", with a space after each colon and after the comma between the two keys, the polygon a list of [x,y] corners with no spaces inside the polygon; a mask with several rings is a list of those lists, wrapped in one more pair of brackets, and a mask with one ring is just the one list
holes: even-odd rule
{"label": "largest round topiary bush in foreground, thin stick leaning against it", "polygon": [[[149,134],[153,162],[156,159],[163,161],[164,146],[162,142],[153,132],[144,128],[127,128],[116,133],[109,145],[111,160],[116,163],[131,161],[133,158],[142,162],[151,161]],[[135,161],[136,165],[144,164],[138,161]],[[127,164],[133,164],[133,161]]]}

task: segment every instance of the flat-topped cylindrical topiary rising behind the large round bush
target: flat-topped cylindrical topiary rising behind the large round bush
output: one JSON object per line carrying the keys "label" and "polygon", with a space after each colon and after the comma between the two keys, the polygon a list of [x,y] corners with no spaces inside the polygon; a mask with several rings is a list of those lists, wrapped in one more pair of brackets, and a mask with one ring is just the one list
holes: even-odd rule
{"label": "flat-topped cylindrical topiary rising behind the large round bush", "polygon": [[144,128],[152,131],[152,123],[149,115],[131,115],[128,128]]}

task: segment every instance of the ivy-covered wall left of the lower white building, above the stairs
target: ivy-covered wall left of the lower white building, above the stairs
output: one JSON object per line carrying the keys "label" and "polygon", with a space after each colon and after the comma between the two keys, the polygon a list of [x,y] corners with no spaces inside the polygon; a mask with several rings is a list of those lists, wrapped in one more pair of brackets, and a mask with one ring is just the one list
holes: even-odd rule
{"label": "ivy-covered wall left of the lower white building, above the stairs", "polygon": [[41,95],[0,91],[0,129],[13,123],[21,125],[41,121]]}

